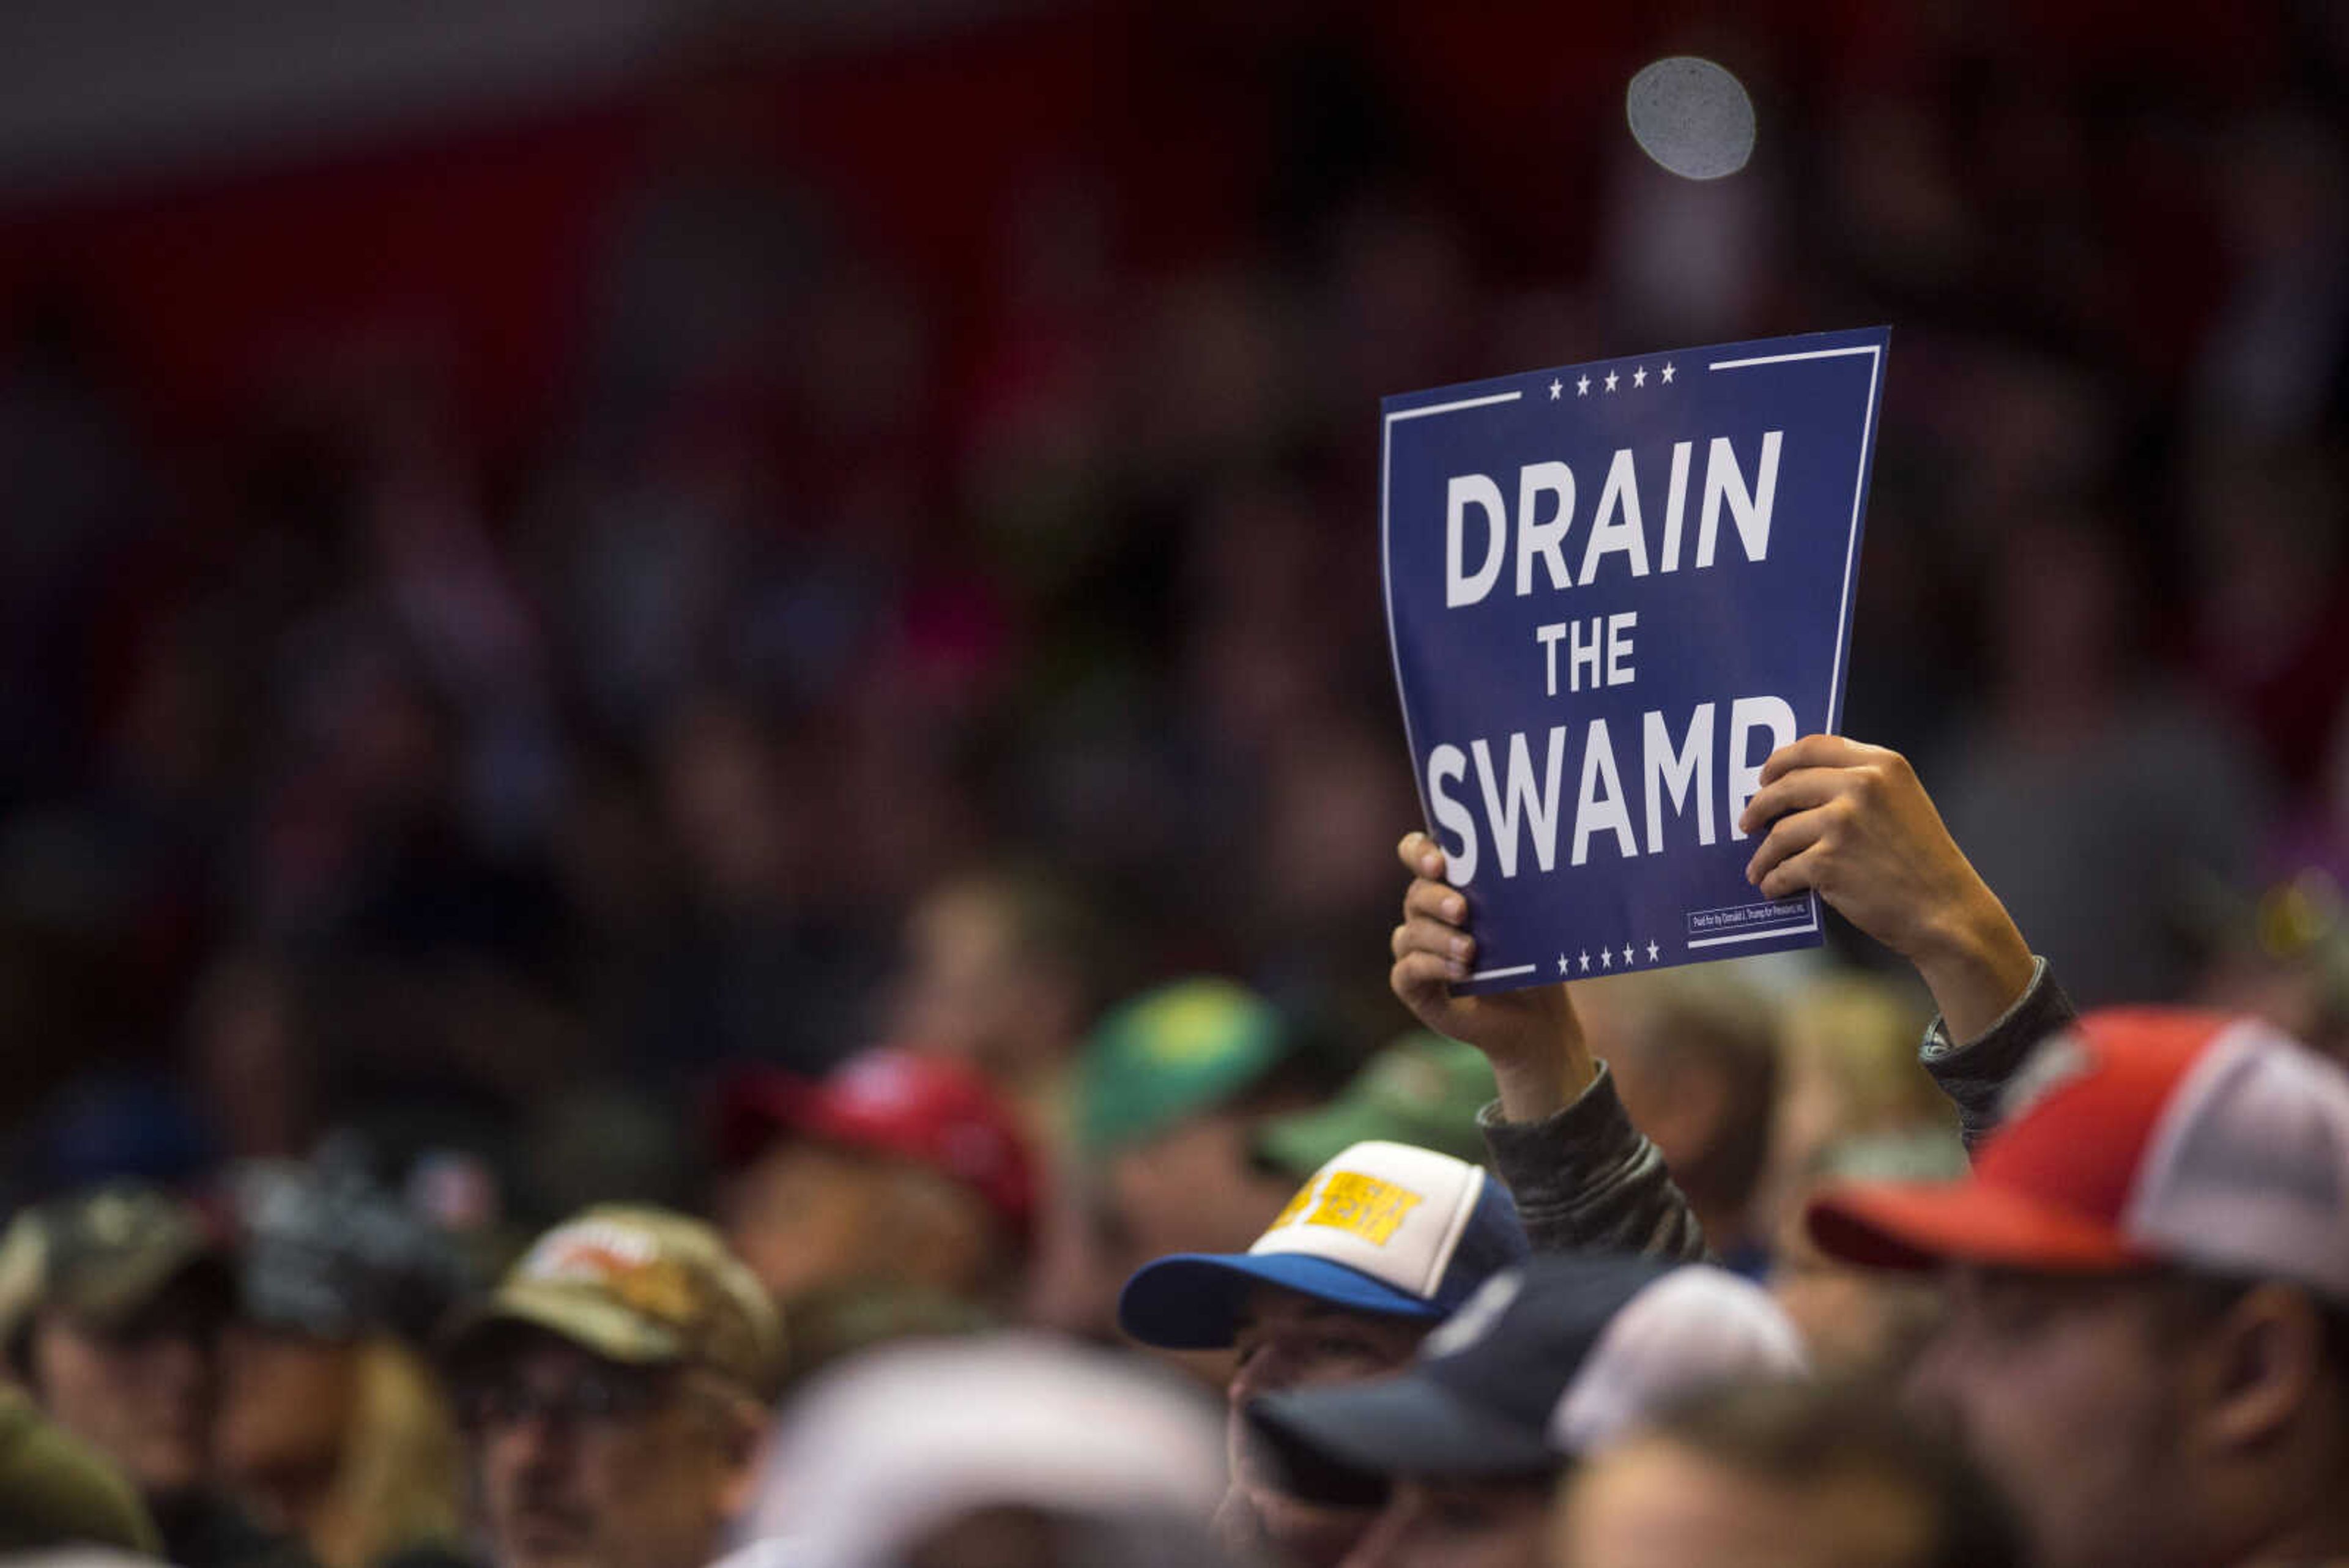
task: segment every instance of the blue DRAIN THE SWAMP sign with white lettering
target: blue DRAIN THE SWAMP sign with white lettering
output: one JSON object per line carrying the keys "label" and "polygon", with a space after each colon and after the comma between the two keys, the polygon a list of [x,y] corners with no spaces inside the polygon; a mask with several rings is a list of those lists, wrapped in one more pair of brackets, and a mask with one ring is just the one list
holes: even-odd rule
{"label": "blue DRAIN THE SWAMP sign with white lettering", "polygon": [[1835,731],[1891,329],[1384,402],[1386,625],[1463,992],[1820,940],[1745,882],[1762,759]]}

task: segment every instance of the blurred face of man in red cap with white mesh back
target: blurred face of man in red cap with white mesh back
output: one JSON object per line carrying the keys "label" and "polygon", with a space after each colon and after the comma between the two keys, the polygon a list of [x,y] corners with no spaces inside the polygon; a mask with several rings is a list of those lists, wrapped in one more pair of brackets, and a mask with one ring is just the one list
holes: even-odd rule
{"label": "blurred face of man in red cap with white mesh back", "polygon": [[2192,1495],[2180,1356],[2140,1279],[1947,1272],[1912,1387],[2006,1490],[2046,1568],[2156,1568]]}

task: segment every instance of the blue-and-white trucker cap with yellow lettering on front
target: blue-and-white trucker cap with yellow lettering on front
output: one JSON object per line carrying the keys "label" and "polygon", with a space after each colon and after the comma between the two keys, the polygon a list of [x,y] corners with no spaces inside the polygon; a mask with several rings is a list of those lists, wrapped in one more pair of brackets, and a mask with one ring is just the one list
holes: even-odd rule
{"label": "blue-and-white trucker cap with yellow lettering on front", "polygon": [[1118,1324],[1160,1349],[1221,1349],[1259,1284],[1433,1324],[1527,1255],[1508,1190],[1402,1143],[1358,1143],[1313,1173],[1245,1253],[1174,1253],[1125,1281]]}

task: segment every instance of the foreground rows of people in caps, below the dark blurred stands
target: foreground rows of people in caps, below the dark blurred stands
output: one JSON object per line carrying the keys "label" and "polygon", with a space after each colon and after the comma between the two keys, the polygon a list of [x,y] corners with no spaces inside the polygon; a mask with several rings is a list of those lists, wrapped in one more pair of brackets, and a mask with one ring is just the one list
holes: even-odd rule
{"label": "foreground rows of people in caps, below the dark blurred stands", "polygon": [[[745,1072],[714,1222],[597,1204],[489,1288],[336,1150],[242,1166],[216,1213],[139,1182],[21,1211],[0,1540],[183,1568],[2349,1561],[2349,1065],[2255,1016],[2077,1013],[1898,752],[1797,741],[1743,830],[1757,886],[1914,966],[1950,1114],[1828,1117],[1776,1182],[1745,1161],[1743,1206],[1785,1215],[1734,1248],[1626,1100],[1644,1067],[1595,1053],[1701,1025],[1663,987],[1635,1027],[1586,1025],[1588,983],[1454,994],[1468,900],[1412,832],[1391,985],[1428,1032],[1322,1103],[1294,1025],[1198,978],[1109,1011],[1059,1107],[897,1046]],[[1849,1067],[1865,1034],[1825,1039]],[[1781,1112],[1708,1056],[1663,1105]],[[1964,1173],[1919,1175],[1929,1140]]]}

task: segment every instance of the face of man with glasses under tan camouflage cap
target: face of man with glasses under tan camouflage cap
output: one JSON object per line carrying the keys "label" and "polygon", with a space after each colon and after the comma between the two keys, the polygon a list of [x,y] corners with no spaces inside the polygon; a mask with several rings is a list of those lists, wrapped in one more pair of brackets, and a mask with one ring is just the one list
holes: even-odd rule
{"label": "face of man with glasses under tan camouflage cap", "polygon": [[749,1486],[754,1418],[674,1368],[533,1335],[463,1408],[498,1568],[700,1568]]}

